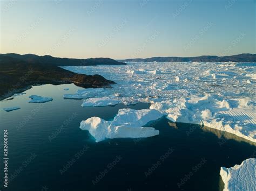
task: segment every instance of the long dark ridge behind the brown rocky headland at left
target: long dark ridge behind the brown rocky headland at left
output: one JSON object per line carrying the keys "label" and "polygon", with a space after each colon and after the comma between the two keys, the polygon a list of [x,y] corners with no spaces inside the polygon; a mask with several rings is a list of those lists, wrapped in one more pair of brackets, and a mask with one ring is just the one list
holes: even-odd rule
{"label": "long dark ridge behind the brown rocky headland at left", "polygon": [[124,62],[118,62],[110,58],[89,58],[89,59],[73,59],[73,58],[56,58],[50,55],[38,56],[35,54],[0,54],[9,56],[14,59],[23,60],[28,63],[42,63],[43,65],[53,66],[95,66],[95,65],[126,65]]}

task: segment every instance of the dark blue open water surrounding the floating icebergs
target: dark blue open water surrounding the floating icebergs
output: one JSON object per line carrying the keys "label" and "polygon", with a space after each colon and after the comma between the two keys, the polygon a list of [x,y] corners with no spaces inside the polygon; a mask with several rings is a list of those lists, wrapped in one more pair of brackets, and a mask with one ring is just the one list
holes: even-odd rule
{"label": "dark blue open water surrounding the floating icebergs", "polygon": [[[252,143],[230,133],[165,118],[151,124],[159,136],[95,143],[79,123],[92,116],[111,119],[126,106],[83,108],[82,100],[62,98],[76,90],[72,84],[38,86],[0,103],[0,143],[3,130],[9,132],[9,188],[1,181],[1,190],[220,190],[221,166],[256,155]],[[32,94],[53,101],[28,103]],[[2,110],[15,106],[22,109]],[[2,150],[1,145],[1,160]]]}

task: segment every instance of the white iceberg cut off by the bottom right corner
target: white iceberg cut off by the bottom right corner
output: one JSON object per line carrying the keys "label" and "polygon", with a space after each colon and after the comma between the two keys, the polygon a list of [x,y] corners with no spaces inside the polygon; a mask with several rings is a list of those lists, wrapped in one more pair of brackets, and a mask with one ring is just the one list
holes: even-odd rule
{"label": "white iceberg cut off by the bottom right corner", "polygon": [[225,184],[224,191],[256,189],[256,159],[246,159],[241,165],[220,168],[220,175]]}

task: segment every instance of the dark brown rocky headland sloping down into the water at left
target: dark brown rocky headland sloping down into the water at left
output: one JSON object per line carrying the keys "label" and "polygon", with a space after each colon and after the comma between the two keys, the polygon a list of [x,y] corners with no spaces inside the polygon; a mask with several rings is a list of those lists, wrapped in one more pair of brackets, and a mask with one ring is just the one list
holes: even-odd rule
{"label": "dark brown rocky headland sloping down into the water at left", "polygon": [[79,87],[110,87],[100,75],[76,74],[50,63],[33,63],[0,55],[0,100],[40,84],[75,83]]}

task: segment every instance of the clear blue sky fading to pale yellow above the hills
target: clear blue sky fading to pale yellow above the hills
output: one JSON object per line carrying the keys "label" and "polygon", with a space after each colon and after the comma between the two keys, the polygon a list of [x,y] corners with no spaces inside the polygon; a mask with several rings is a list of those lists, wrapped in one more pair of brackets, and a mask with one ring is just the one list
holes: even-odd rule
{"label": "clear blue sky fading to pale yellow above the hills", "polygon": [[1,1],[1,53],[113,59],[255,53],[254,0]]}

